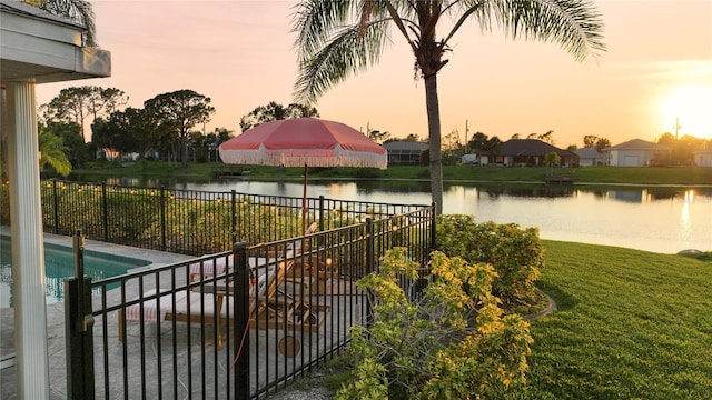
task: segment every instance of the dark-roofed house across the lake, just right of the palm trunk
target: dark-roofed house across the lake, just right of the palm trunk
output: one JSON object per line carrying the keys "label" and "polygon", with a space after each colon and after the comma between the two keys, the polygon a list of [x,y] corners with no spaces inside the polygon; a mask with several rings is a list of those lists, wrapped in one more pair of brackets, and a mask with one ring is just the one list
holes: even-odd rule
{"label": "dark-roofed house across the lake, just right of the palm trunk", "polygon": [[561,166],[573,167],[578,157],[568,150],[537,139],[510,139],[502,143],[498,154],[482,154],[479,164],[498,164],[505,167],[543,167],[546,154],[555,152],[561,157]]}

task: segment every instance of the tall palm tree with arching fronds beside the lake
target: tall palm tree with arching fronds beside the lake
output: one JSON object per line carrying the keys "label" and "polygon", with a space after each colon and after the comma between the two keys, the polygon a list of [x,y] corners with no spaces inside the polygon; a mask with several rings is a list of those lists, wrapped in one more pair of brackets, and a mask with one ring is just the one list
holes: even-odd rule
{"label": "tall palm tree with arching fronds beside the lake", "polygon": [[[442,20],[455,23],[438,39]],[[390,27],[405,38],[425,81],[431,184],[438,213],[443,171],[437,73],[448,62],[444,56],[452,38],[468,20],[483,30],[497,24],[514,39],[556,42],[580,61],[605,50],[603,23],[591,0],[305,0],[293,27],[300,67],[295,98],[305,103],[375,64],[389,42]]]}

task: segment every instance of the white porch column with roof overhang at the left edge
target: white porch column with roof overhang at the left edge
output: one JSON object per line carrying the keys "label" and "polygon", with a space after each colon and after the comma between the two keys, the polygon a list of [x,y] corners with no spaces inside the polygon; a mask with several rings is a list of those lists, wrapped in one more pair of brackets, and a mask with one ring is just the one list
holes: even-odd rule
{"label": "white porch column with roof overhang at the left edge", "polygon": [[50,398],[36,86],[111,74],[110,53],[86,47],[85,32],[83,26],[47,11],[0,0],[0,114],[8,137],[3,150],[8,154],[12,204],[14,379],[19,399]]}

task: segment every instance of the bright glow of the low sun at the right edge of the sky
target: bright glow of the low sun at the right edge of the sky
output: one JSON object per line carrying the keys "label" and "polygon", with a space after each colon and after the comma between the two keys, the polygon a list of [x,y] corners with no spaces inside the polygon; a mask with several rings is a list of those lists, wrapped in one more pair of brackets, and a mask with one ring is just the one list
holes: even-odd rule
{"label": "bright glow of the low sun at the right edge of the sky", "polygon": [[[676,87],[660,104],[661,123],[666,132],[712,139],[712,84]],[[678,128],[675,126],[679,124]]]}

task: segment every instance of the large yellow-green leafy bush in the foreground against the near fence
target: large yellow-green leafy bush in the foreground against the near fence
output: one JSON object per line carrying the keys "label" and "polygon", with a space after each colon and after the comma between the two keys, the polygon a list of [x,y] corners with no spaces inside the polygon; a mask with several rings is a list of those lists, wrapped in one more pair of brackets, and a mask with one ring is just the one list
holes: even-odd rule
{"label": "large yellow-green leafy bush in the foreground against the near fence", "polygon": [[336,399],[502,398],[524,388],[528,323],[505,316],[492,296],[492,266],[432,256],[431,283],[417,301],[398,283],[424,278],[404,248],[389,250],[379,271],[357,282],[374,319],[352,328],[356,366]]}

